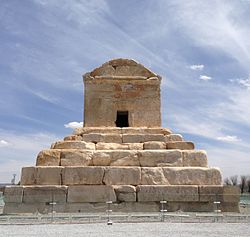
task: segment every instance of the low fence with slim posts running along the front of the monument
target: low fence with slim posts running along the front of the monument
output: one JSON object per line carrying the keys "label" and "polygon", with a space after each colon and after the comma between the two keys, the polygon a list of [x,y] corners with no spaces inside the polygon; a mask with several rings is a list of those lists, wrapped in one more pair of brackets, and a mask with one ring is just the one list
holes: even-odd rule
{"label": "low fence with slim posts running along the front of the monument", "polygon": [[[221,212],[221,199],[217,194],[208,194],[211,197],[213,211],[210,212],[170,212],[167,200],[161,200],[158,212],[117,212],[113,211],[114,203],[107,201],[104,203],[102,212],[92,213],[59,213],[57,201],[53,198],[48,205],[48,213],[34,214],[12,214],[3,215],[1,211],[4,205],[4,197],[0,193],[0,224],[42,224],[42,223],[107,223],[112,225],[115,222],[247,222],[250,223],[250,195],[240,196],[240,213]],[[225,196],[225,195],[224,195]],[[232,197],[233,195],[229,195]],[[106,206],[105,206],[106,205]]]}

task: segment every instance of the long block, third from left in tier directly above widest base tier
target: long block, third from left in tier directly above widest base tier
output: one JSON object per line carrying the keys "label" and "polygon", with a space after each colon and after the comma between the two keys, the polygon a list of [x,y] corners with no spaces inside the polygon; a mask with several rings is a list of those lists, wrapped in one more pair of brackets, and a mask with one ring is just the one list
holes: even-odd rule
{"label": "long block, third from left in tier directly above widest base tier", "polygon": [[102,184],[103,167],[65,167],[62,174],[64,185]]}

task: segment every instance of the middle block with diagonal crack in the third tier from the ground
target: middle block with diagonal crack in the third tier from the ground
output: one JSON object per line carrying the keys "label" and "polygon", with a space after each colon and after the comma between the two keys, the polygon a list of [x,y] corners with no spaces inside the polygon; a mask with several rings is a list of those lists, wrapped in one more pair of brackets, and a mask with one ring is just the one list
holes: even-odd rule
{"label": "middle block with diagonal crack in the third tier from the ground", "polygon": [[135,151],[104,150],[93,153],[94,166],[140,166]]}

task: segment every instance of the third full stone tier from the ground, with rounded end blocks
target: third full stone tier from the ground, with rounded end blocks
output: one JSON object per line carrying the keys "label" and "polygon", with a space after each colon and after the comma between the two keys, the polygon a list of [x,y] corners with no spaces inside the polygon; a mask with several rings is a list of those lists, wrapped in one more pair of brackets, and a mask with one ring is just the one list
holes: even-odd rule
{"label": "third full stone tier from the ground, with rounded end blocks", "polygon": [[203,150],[50,149],[37,156],[37,166],[193,166],[207,167]]}

